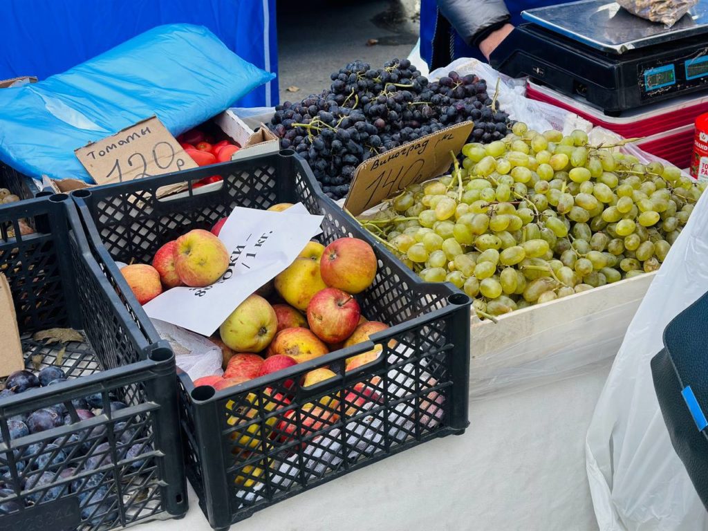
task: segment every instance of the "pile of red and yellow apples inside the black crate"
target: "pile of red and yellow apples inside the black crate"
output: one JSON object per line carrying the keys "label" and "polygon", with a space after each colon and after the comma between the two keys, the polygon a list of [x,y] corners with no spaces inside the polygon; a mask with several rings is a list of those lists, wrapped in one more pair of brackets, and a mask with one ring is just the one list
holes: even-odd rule
{"label": "pile of red and yellow apples inside the black crate", "polygon": [[[273,205],[280,212],[290,203]],[[205,287],[222,277],[229,252],[218,235],[226,218],[211,232],[194,229],[155,253],[152,265],[125,265],[120,272],[140,304],[172,287]],[[354,295],[374,281],[376,255],[366,241],[341,238],[324,246],[309,241],[295,261],[268,285],[234,309],[212,341],[222,349],[223,376],[208,376],[195,386],[224,389],[268,375],[340,348],[368,341],[388,326],[362,316]],[[273,304],[266,297],[272,299]],[[381,346],[346,360],[353,370],[377,359]],[[316,372],[323,375],[333,372]],[[305,379],[308,379],[307,377]]]}

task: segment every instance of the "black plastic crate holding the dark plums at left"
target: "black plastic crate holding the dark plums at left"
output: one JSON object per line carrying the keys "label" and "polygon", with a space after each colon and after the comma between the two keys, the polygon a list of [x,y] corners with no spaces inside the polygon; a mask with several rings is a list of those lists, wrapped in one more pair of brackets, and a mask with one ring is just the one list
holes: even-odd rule
{"label": "black plastic crate holding the dark plums at left", "polygon": [[[34,232],[23,235],[21,227]],[[91,253],[67,195],[0,207],[0,272],[11,287],[25,367],[53,365],[67,377],[0,397],[0,527],[98,531],[181,518],[187,498],[174,355],[166,343],[147,341],[114,273]],[[33,338],[53,328],[75,329],[84,341]],[[16,422],[30,423],[48,407],[64,422],[30,434]],[[100,414],[81,411],[91,408]],[[134,446],[137,455],[128,452]]]}

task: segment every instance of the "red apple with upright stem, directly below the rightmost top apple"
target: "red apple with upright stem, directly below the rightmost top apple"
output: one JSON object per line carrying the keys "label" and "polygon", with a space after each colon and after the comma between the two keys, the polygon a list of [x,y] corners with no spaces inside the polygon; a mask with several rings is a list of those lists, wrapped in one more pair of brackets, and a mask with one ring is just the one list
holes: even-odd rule
{"label": "red apple with upright stem, directly below the rightmost top apple", "polygon": [[307,305],[307,323],[325,343],[341,343],[352,335],[361,316],[352,295],[334,287],[317,292]]}

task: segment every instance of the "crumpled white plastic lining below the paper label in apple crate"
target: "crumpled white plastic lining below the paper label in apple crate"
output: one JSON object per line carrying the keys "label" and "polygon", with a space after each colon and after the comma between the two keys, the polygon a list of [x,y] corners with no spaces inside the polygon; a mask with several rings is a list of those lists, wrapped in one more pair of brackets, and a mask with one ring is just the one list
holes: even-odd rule
{"label": "crumpled white plastic lining below the paper label in apple crate", "polygon": [[193,333],[166,321],[151,319],[159,336],[170,344],[175,363],[194,381],[202,376],[221,376],[222,351],[198,333]]}

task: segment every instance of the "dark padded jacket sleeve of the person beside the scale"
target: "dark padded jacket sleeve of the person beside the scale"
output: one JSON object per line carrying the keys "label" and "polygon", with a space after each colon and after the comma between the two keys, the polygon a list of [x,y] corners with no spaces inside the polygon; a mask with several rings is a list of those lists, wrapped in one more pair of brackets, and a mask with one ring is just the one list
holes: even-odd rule
{"label": "dark padded jacket sleeve of the person beside the scale", "polygon": [[470,46],[510,19],[503,0],[438,0],[438,8]]}

